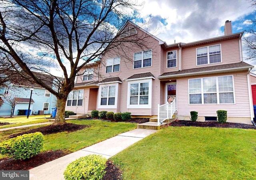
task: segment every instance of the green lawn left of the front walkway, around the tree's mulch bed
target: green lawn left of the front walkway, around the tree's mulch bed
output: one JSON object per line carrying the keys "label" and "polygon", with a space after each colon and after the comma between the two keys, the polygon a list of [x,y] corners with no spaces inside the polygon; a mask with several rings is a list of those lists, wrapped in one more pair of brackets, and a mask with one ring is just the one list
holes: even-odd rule
{"label": "green lawn left of the front walkway, around the tree's mulch bed", "polygon": [[[108,122],[100,120],[70,120],[68,123],[78,125],[90,125],[89,128],[74,131],[71,133],[61,132],[51,135],[44,135],[44,151],[47,150],[64,150],[68,152],[75,152],[97,142],[106,140],[120,133],[136,129],[135,123],[124,122]],[[33,129],[35,127],[26,128]],[[24,131],[23,129],[15,129],[10,131],[0,132],[0,142],[8,139],[9,135]],[[3,158],[4,156],[0,156]]]}

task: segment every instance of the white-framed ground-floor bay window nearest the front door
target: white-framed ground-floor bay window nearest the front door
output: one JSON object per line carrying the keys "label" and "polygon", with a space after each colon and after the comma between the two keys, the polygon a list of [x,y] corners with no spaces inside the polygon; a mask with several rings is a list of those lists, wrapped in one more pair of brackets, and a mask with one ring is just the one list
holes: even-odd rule
{"label": "white-framed ground-floor bay window nearest the front door", "polygon": [[150,109],[152,99],[152,79],[128,82],[127,108]]}

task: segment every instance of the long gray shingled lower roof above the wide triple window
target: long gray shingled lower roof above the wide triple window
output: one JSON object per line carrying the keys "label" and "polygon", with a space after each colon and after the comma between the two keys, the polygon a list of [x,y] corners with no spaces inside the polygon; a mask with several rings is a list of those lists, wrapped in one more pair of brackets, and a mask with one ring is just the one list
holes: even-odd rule
{"label": "long gray shingled lower roof above the wide triple window", "polygon": [[231,72],[231,71],[242,71],[242,70],[246,70],[248,68],[253,68],[253,67],[254,66],[247,64],[245,62],[239,62],[239,63],[232,63],[232,64],[198,67],[193,69],[184,69],[182,71],[173,71],[173,72],[163,73],[162,75],[158,76],[158,78],[225,73],[225,72]]}

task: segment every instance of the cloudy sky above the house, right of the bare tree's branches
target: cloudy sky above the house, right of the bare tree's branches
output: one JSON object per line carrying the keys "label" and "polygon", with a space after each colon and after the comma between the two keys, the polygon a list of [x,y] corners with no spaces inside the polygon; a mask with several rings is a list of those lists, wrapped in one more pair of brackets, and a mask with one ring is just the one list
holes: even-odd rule
{"label": "cloudy sky above the house, right of the bare tree's branches", "polygon": [[146,0],[138,12],[140,22],[150,20],[144,29],[173,44],[223,36],[226,20],[233,33],[242,32],[255,18],[250,6],[250,0]]}

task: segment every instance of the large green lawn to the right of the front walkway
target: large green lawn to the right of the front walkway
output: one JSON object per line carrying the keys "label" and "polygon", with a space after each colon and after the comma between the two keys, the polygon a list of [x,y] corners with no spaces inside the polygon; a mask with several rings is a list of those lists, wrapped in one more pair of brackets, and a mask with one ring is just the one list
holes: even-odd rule
{"label": "large green lawn to the right of the front walkway", "polygon": [[256,131],[168,127],[112,157],[124,180],[256,179]]}

